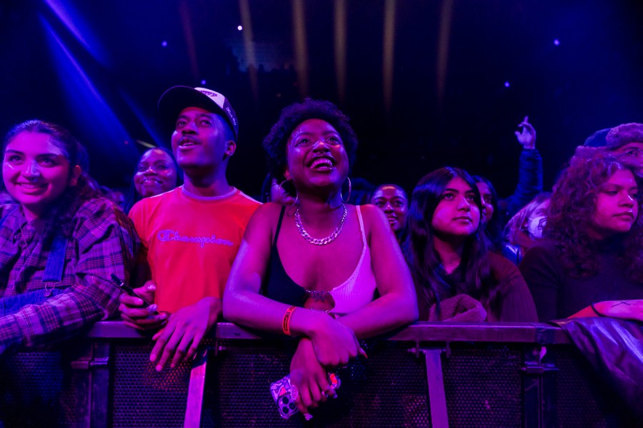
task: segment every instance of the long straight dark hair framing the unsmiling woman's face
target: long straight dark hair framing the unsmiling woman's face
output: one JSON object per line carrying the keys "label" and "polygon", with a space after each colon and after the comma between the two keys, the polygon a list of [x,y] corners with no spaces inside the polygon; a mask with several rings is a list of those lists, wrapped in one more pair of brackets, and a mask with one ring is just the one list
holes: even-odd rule
{"label": "long straight dark hair framing the unsmiling woman's face", "polygon": [[[411,195],[411,205],[407,217],[407,238],[402,244],[404,257],[411,269],[416,285],[418,300],[430,307],[449,297],[452,285],[447,281],[447,272],[434,250],[433,215],[442,193],[454,178],[462,178],[472,189],[474,200],[482,211],[480,193],[471,175],[459,168],[444,167],[424,176],[415,186]],[[481,221],[482,223],[482,221]],[[489,267],[489,243],[481,224],[464,240],[460,266],[464,267],[464,280],[467,295],[491,310],[495,318],[501,311],[497,281],[492,277]]]}

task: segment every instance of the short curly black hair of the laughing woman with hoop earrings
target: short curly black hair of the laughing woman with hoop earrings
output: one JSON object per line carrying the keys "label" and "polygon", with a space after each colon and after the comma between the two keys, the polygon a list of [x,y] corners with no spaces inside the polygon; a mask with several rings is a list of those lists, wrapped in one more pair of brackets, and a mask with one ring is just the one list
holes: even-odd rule
{"label": "short curly black hair of the laughing woman with hoop earrings", "polygon": [[337,130],[348,155],[349,170],[353,166],[357,152],[357,136],[349,124],[348,116],[329,101],[306,98],[302,103],[294,103],[284,108],[279,120],[264,138],[264,149],[268,154],[268,171],[278,182],[285,180],[288,138],[300,123],[309,119],[321,119]]}

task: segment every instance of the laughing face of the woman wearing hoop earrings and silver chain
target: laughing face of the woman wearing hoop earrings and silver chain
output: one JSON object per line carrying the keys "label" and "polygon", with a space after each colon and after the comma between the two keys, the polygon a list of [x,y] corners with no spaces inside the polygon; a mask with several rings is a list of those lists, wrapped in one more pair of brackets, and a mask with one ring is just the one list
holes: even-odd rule
{"label": "laughing face of the woman wearing hoop earrings and silver chain", "polygon": [[298,191],[314,188],[339,189],[346,180],[349,162],[337,130],[321,119],[299,124],[286,144],[286,179]]}

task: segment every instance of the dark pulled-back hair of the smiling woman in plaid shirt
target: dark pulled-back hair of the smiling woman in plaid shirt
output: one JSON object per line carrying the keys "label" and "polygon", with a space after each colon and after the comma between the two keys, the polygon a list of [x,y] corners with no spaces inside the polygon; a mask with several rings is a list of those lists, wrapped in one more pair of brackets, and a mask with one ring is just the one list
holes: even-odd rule
{"label": "dark pulled-back hair of the smiling woman in plaid shirt", "polygon": [[[51,143],[61,150],[66,160],[69,162],[69,175],[76,165],[86,163],[84,156],[86,152],[74,136],[65,128],[56,123],[39,121],[32,119],[18,123],[11,128],[4,138],[2,144],[2,154],[6,151],[6,146],[21,133],[43,133],[49,136]],[[44,243],[51,243],[56,233],[61,233],[65,238],[69,238],[74,231],[74,215],[87,200],[99,198],[101,194],[98,190],[89,185],[89,175],[81,171],[81,175],[76,181],[76,185],[68,185],[62,195],[56,199],[55,203],[49,205],[43,213],[45,220],[43,236]],[[3,183],[4,185],[4,183]]]}

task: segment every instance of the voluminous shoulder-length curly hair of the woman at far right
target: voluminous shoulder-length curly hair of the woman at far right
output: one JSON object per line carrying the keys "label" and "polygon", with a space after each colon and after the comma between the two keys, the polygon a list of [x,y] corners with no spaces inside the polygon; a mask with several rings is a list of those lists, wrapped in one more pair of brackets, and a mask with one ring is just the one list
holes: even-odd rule
{"label": "voluminous shoulder-length curly hair of the woman at far right", "polygon": [[[597,210],[597,195],[601,185],[619,170],[632,172],[637,186],[642,186],[636,167],[623,158],[616,158],[601,149],[579,147],[564,170],[549,201],[545,238],[556,245],[563,263],[574,277],[592,277],[598,273],[597,245],[590,236],[592,217]],[[639,193],[640,195],[640,193]],[[643,222],[641,199],[637,219],[628,233],[617,235],[619,263],[627,277],[643,280]]]}

